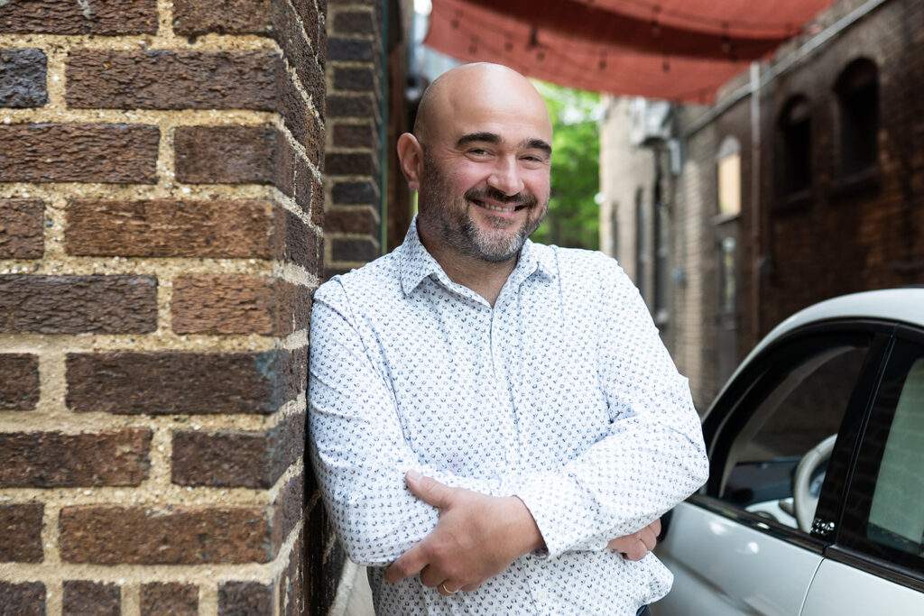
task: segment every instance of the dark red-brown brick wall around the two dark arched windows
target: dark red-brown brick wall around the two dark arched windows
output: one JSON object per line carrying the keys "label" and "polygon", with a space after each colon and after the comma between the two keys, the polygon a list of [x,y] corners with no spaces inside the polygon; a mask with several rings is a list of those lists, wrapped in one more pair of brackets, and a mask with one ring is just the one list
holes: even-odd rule
{"label": "dark red-brown brick wall around the two dark arched windows", "polygon": [[[824,22],[858,6],[835,6]],[[868,186],[840,175],[840,128],[834,84],[856,58],[879,69],[880,127],[876,175]],[[822,299],[872,288],[924,283],[924,6],[894,0],[843,32],[821,53],[777,80],[761,101],[768,136],[792,96],[812,113],[813,182],[808,199],[782,203],[774,186],[779,156],[764,142],[761,201],[772,270],[760,303],[760,329]],[[786,207],[780,207],[781,205]]]}

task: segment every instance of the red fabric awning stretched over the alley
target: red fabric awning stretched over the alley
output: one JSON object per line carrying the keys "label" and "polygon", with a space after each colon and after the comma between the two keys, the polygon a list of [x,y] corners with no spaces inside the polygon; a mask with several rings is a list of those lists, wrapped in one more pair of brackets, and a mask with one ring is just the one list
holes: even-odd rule
{"label": "red fabric awning stretched over the alley", "polygon": [[711,103],[833,0],[432,0],[424,44],[583,90]]}

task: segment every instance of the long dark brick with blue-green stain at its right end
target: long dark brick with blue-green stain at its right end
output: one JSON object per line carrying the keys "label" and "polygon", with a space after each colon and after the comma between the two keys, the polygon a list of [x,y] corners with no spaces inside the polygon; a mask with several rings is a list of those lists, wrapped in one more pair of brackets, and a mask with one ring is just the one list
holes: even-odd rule
{"label": "long dark brick with blue-green stain at its right end", "polygon": [[301,391],[301,352],[67,356],[67,406],[117,415],[273,413]]}

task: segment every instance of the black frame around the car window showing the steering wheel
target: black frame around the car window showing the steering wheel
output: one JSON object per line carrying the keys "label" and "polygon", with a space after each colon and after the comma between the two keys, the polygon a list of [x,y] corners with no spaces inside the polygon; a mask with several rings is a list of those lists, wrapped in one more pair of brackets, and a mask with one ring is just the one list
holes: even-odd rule
{"label": "black frame around the car window showing the steering wheel", "polygon": [[[736,372],[707,413],[703,422],[703,436],[710,457],[710,478],[706,486],[687,501],[760,533],[822,554],[836,540],[845,482],[853,464],[859,428],[872,402],[874,392],[871,388],[876,386],[881,376],[882,362],[893,330],[893,324],[879,320],[822,321],[797,328],[763,349],[759,356]],[[807,535],[719,499],[724,466],[731,445],[740,429],[752,417],[758,401],[779,384],[781,355],[804,356],[806,353],[820,351],[824,346],[856,342],[860,337],[868,339],[869,351],[850,394],[841,429],[838,430],[812,532]]]}

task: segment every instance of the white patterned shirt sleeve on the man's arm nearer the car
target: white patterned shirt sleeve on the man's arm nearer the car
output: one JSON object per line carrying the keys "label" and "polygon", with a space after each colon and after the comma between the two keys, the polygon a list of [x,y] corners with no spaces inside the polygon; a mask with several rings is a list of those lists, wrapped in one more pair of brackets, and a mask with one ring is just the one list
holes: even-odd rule
{"label": "white patterned shirt sleeve on the man's arm nearer the car", "polygon": [[599,369],[608,434],[554,472],[521,477],[514,489],[552,558],[604,549],[658,519],[709,475],[687,379],[626,274],[613,260],[603,272]]}

